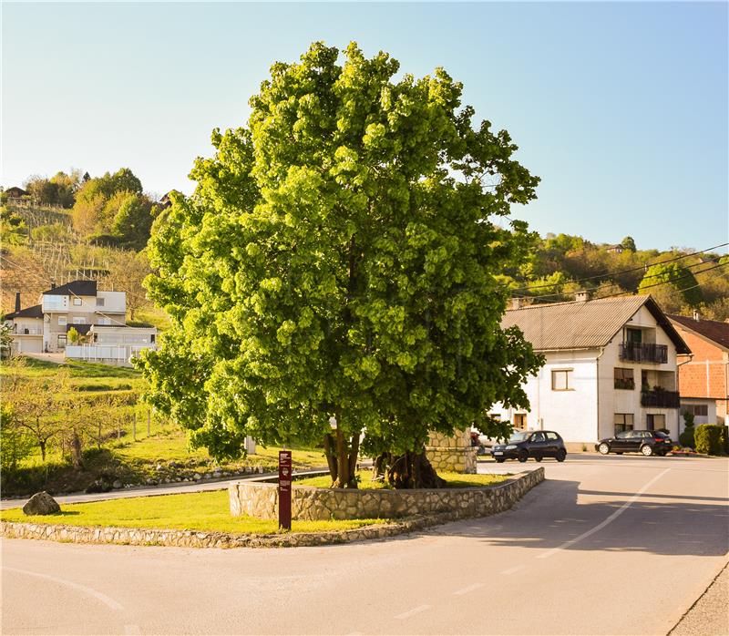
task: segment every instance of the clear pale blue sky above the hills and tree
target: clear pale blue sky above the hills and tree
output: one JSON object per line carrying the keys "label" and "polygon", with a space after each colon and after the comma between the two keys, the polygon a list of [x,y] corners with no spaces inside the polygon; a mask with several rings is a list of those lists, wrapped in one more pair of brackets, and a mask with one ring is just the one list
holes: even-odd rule
{"label": "clear pale blue sky above the hills and tree", "polygon": [[726,3],[2,4],[2,183],[131,168],[190,192],[212,128],[245,122],[313,40],[446,67],[542,178],[541,232],[639,248],[729,241]]}

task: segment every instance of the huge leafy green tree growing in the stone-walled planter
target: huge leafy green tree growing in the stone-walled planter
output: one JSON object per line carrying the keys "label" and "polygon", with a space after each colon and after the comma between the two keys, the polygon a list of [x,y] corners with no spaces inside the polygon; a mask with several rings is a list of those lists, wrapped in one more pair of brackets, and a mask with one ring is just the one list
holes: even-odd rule
{"label": "huge leafy green tree growing in the stone-walled planter", "polygon": [[428,431],[504,433],[488,407],[528,404],[540,359],[500,328],[495,275],[534,237],[495,219],[539,179],[446,71],[398,67],[354,44],[274,64],[248,125],[213,133],[197,189],[155,221],[149,293],[173,326],[139,365],[214,456],[246,435],[318,442],[334,485],[356,487],[366,431],[417,486]]}

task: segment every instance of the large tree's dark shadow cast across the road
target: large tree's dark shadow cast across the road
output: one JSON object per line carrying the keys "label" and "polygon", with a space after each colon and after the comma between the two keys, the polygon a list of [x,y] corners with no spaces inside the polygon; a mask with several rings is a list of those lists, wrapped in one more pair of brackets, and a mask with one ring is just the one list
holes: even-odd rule
{"label": "large tree's dark shadow cast across the road", "polygon": [[634,494],[580,490],[577,481],[548,480],[507,512],[448,523],[421,536],[468,537],[480,539],[484,546],[545,551],[561,547],[692,556],[729,552],[726,499],[674,496],[665,501],[669,496],[644,495],[626,507]]}

